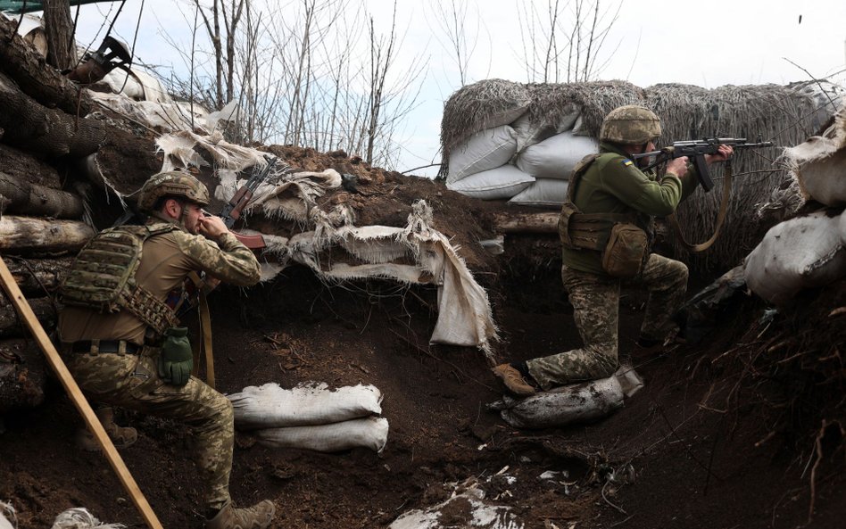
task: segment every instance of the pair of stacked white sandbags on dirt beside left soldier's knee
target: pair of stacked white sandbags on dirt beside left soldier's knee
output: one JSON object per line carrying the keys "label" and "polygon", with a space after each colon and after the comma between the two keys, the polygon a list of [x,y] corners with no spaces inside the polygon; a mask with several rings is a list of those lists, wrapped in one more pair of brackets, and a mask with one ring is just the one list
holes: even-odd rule
{"label": "pair of stacked white sandbags on dirt beside left soldier's knee", "polygon": [[364,447],[380,452],[387,442],[387,419],[377,417],[382,393],[373,385],[330,390],[327,384],[312,383],[286,390],[270,383],[246,387],[228,399],[235,426],[271,448],[335,452]]}

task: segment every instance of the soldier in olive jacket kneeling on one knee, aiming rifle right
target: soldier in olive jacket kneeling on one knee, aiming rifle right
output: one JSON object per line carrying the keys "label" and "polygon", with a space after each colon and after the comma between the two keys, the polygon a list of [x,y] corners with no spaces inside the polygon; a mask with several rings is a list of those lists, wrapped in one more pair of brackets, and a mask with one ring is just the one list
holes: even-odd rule
{"label": "soldier in olive jacket kneeling on one knee, aiming rifle right", "polygon": [[[654,349],[674,332],[671,317],[684,302],[687,267],[650,252],[652,217],[667,216],[698,183],[687,158],[668,161],[660,180],[637,168],[629,156],[655,150],[658,116],[626,105],[602,121],[600,152],[580,161],[570,176],[561,209],[561,278],[573,305],[583,347],[543,358],[501,364],[493,374],[510,393],[528,396],[575,382],[611,376],[618,368],[618,310],[621,280],[649,291],[637,345]],[[725,161],[732,148],[705,157]],[[647,159],[643,159],[644,161]],[[630,358],[619,364],[630,365]]]}

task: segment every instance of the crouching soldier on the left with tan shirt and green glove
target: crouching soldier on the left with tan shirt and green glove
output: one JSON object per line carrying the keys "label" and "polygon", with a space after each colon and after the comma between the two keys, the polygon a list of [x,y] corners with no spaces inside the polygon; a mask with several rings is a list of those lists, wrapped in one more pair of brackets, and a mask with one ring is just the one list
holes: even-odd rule
{"label": "crouching soldier on the left with tan shirt and green glove", "polygon": [[[138,208],[150,214],[145,225],[95,236],[62,285],[62,355],[95,401],[192,428],[209,529],[263,529],[276,508],[270,500],[232,506],[232,405],[190,375],[186,329],[177,326],[173,303],[167,302],[181,297],[186,277],[195,271],[239,286],[259,281],[253,252],[220,218],[203,215],[208,203],[208,189],[187,173],[165,172],[146,181],[138,197]],[[115,433],[113,424],[105,426]]]}

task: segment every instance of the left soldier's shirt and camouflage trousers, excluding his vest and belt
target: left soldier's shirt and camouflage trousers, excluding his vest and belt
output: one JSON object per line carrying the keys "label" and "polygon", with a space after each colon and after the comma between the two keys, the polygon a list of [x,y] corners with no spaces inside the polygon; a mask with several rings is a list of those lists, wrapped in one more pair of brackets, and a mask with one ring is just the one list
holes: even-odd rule
{"label": "left soldier's shirt and camouflage trousers, excluding his vest and belt", "polygon": [[[181,288],[187,274],[202,270],[239,286],[259,280],[259,264],[230,233],[212,243],[203,236],[170,231],[145,241],[137,269],[138,285],[160,301]],[[157,347],[145,345],[139,354],[71,352],[72,343],[120,340],[145,343],[144,322],[120,310],[98,313],[66,307],[59,315],[62,352],[79,386],[95,401],[168,417],[193,428],[195,462],[204,482],[204,501],[213,511],[229,502],[232,467],[233,412],[228,399],[192,376],[185,386],[166,384],[158,375]]]}

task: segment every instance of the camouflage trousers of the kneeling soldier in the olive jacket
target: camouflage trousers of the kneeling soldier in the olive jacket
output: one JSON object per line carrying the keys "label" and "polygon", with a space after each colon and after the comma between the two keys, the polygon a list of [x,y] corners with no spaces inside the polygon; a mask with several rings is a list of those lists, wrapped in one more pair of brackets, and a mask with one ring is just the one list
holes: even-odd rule
{"label": "camouflage trousers of the kneeling soldier in the olive jacket", "polygon": [[[567,267],[561,269],[561,279],[584,346],[527,361],[529,374],[544,390],[611,376],[618,366],[620,280]],[[641,335],[664,338],[674,326],[670,318],[684,303],[687,267],[652,253],[641,275],[628,283],[649,290]]]}

